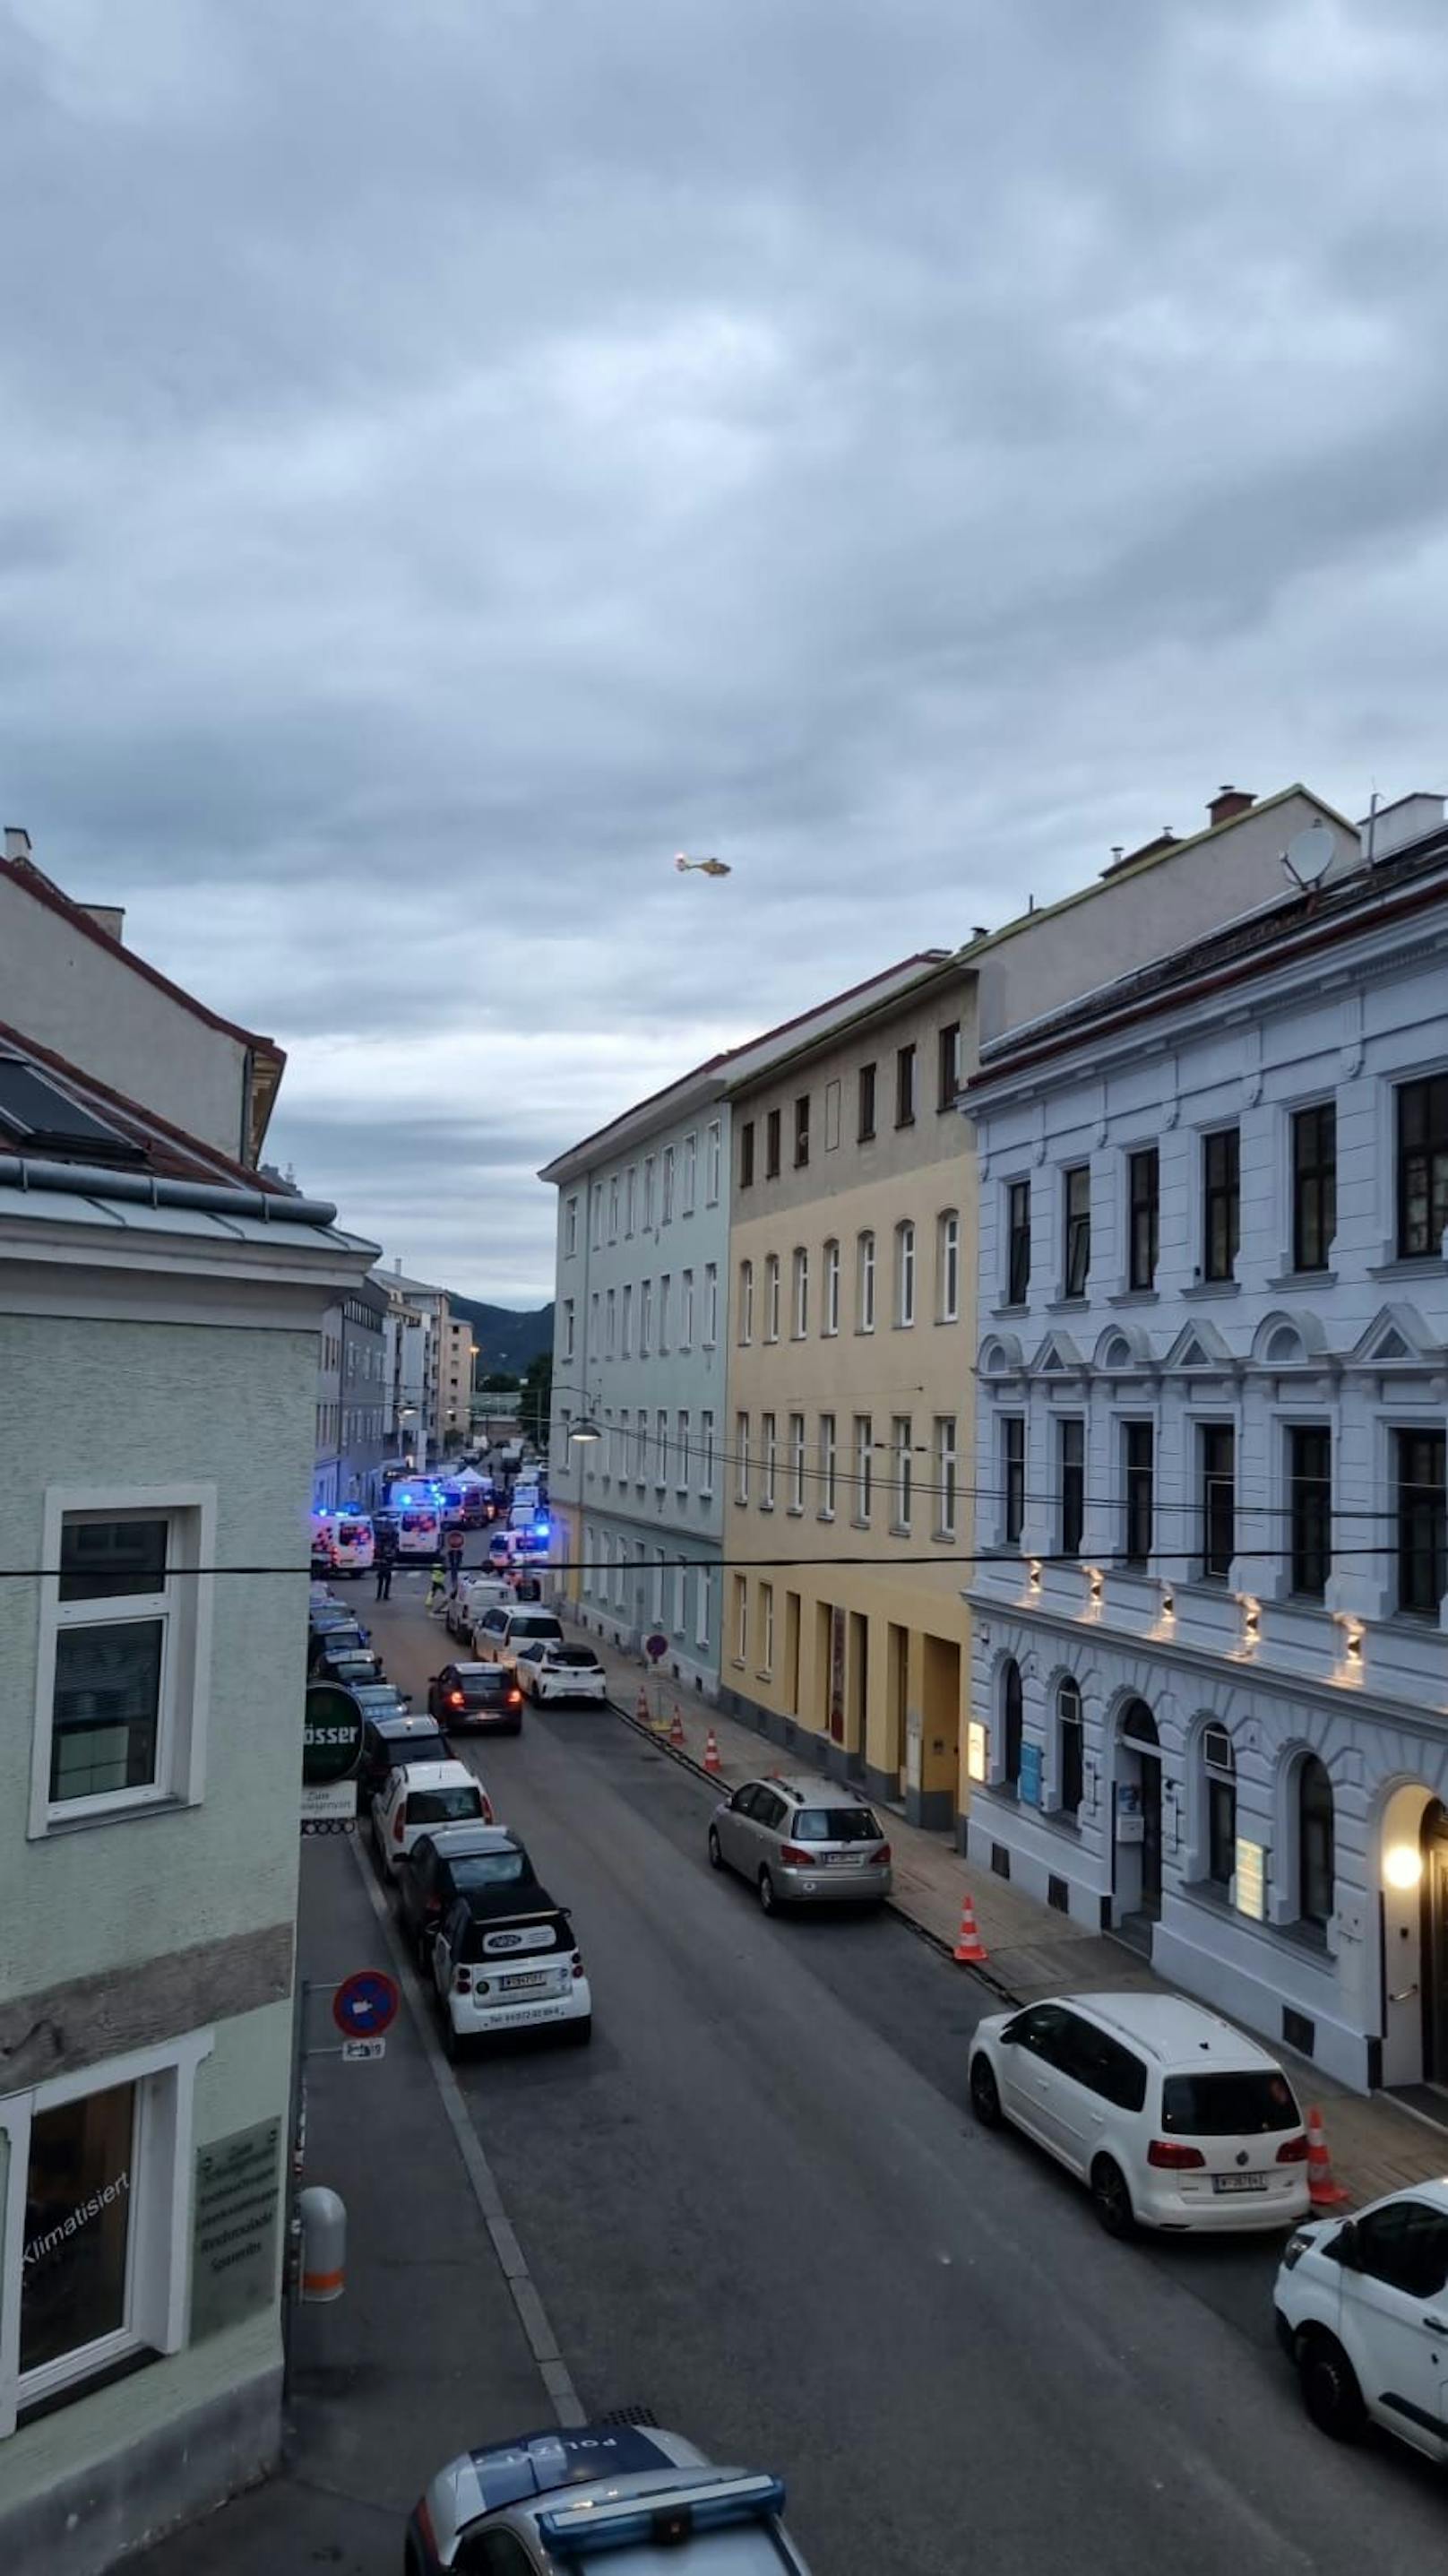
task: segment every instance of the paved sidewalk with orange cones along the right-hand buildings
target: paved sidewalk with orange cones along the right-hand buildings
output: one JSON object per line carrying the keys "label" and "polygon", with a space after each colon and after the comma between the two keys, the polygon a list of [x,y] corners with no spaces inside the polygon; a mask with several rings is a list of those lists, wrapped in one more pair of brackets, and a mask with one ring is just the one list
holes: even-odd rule
{"label": "paved sidewalk with orange cones along the right-hand buildings", "polygon": [[[559,1602],[567,1618],[567,1602]],[[719,1744],[719,1788],[732,1790],[742,1780],[755,1780],[763,1770],[781,1770],[788,1759],[778,1744],[721,1716],[701,1692],[654,1680],[642,1656],[621,1654],[593,1631],[590,1643],[608,1672],[608,1687],[618,1705],[631,1713],[639,1690],[647,1687],[649,1710],[662,1698],[665,1726],[678,1705],[685,1731],[685,1749],[675,1754],[691,1770],[703,1767],[706,1734],[714,1728]],[[636,1723],[631,1718],[631,1723]],[[801,1767],[809,1767],[801,1759]],[[1152,1973],[1136,1950],[1103,1932],[1087,1932],[1064,1914],[1051,1914],[1031,1896],[1005,1886],[989,1870],[971,1868],[940,1834],[928,1834],[889,1808],[889,1842],[894,1852],[894,1911],[943,1950],[956,1947],[961,1929],[961,1901],[971,1896],[989,1960],[971,1971],[1002,2004],[1033,2004],[1043,1994],[1121,1994],[1126,1989],[1152,1991],[1162,1978]],[[961,1971],[964,1973],[964,1971]],[[1283,2050],[1291,2058],[1291,2050]],[[1291,2061],[1296,2089],[1306,2102],[1324,2107],[1332,2169],[1355,2205],[1396,2192],[1407,2182],[1427,2182],[1448,2174],[1448,2133],[1438,2133],[1412,2112],[1386,2102],[1384,2094],[1353,2094],[1324,2076],[1322,2069],[1301,2058]]]}

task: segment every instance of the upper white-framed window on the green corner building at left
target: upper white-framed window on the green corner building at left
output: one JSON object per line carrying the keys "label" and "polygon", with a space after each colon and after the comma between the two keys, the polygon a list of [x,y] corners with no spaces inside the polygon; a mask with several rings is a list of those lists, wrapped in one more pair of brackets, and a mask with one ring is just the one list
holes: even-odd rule
{"label": "upper white-framed window on the green corner building at left", "polygon": [[[191,1798],[209,1700],[214,1504],[196,1489],[116,1510],[46,1497],[31,1832]],[[206,1533],[206,1535],[204,1535]]]}

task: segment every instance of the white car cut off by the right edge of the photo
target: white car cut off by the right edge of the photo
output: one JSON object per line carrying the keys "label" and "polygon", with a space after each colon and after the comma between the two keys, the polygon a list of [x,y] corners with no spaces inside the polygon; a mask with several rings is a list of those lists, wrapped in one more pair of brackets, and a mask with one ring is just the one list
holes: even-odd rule
{"label": "white car cut off by the right edge of the photo", "polygon": [[1273,2308],[1322,2432],[1350,2442],[1371,2419],[1448,2458],[1448,2179],[1299,2228]]}

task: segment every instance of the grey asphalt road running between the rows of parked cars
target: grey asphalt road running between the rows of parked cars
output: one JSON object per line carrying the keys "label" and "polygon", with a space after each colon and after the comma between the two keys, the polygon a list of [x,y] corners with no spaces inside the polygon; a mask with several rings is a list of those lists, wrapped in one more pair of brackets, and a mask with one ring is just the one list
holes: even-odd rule
{"label": "grey asphalt road running between the rows of parked cars", "polygon": [[[415,1600],[376,1636],[423,1703],[453,1649]],[[1273,2249],[1110,2244],[976,2130],[969,1971],[889,1917],[768,1922],[709,1870],[709,1788],[603,1710],[464,1759],[593,1978],[587,2053],[461,2076],[590,2409],[778,2468],[819,2576],[1440,2566],[1433,2473],[1301,2416]]]}

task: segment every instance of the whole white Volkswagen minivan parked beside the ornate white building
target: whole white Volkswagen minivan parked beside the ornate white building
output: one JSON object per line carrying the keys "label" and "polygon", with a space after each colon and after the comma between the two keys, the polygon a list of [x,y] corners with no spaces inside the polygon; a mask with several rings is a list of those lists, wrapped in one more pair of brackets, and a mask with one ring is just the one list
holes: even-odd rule
{"label": "whole white Volkswagen minivan parked beside the ornate white building", "polygon": [[1306,2215],[1306,2130],[1265,2048],[1175,1994],[1067,1994],[971,2035],[971,2107],[1090,2184],[1110,2236]]}

